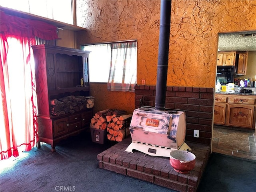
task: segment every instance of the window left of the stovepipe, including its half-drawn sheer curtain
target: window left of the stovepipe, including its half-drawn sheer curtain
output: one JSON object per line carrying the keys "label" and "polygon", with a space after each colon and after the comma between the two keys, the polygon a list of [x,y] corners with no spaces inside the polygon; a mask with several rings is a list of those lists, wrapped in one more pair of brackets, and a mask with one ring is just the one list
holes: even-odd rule
{"label": "window left of the stovepipe, including its half-drawn sheer curtain", "polygon": [[89,55],[90,82],[107,82],[108,90],[134,92],[137,81],[137,42],[82,46]]}

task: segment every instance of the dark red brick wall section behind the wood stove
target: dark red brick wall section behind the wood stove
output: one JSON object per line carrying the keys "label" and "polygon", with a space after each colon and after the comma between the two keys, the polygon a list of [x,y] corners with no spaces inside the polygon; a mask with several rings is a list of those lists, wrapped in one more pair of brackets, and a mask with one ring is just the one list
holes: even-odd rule
{"label": "dark red brick wall section behind the wood stove", "polygon": [[[135,108],[140,107],[140,98],[145,106],[155,106],[156,86],[135,87]],[[211,144],[214,88],[167,86],[165,107],[185,110],[186,141]],[[199,130],[195,138],[194,130]]]}

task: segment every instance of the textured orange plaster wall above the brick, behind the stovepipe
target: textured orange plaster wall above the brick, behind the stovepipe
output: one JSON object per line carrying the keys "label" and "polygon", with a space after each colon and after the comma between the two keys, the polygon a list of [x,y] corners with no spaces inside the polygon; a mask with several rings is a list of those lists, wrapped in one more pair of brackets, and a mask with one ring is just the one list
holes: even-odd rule
{"label": "textured orange plaster wall above the brick, behind the stovepipe", "polygon": [[[84,0],[77,5],[78,25],[88,29],[86,35],[78,33],[78,43],[137,39],[137,82],[146,79],[146,85],[155,85],[160,1]],[[167,85],[215,87],[218,33],[255,30],[255,15],[255,0],[172,1]],[[92,92],[97,89],[92,86]]]}

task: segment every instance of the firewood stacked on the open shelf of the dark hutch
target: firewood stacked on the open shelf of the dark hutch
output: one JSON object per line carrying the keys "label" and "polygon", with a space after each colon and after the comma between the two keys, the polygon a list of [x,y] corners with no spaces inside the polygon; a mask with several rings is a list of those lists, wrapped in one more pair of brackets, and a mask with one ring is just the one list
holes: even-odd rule
{"label": "firewood stacked on the open shelf of the dark hutch", "polygon": [[86,108],[94,106],[94,97],[91,96],[67,96],[59,99],[50,100],[51,114],[63,115],[67,113],[73,114]]}

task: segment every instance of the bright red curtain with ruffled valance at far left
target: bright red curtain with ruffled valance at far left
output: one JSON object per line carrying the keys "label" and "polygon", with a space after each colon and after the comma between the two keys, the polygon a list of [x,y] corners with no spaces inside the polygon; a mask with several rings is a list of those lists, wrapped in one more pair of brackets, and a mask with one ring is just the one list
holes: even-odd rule
{"label": "bright red curtain with ruffled valance at far left", "polygon": [[0,160],[31,150],[38,140],[36,90],[31,45],[35,36],[54,40],[56,27],[8,16],[0,22]]}

